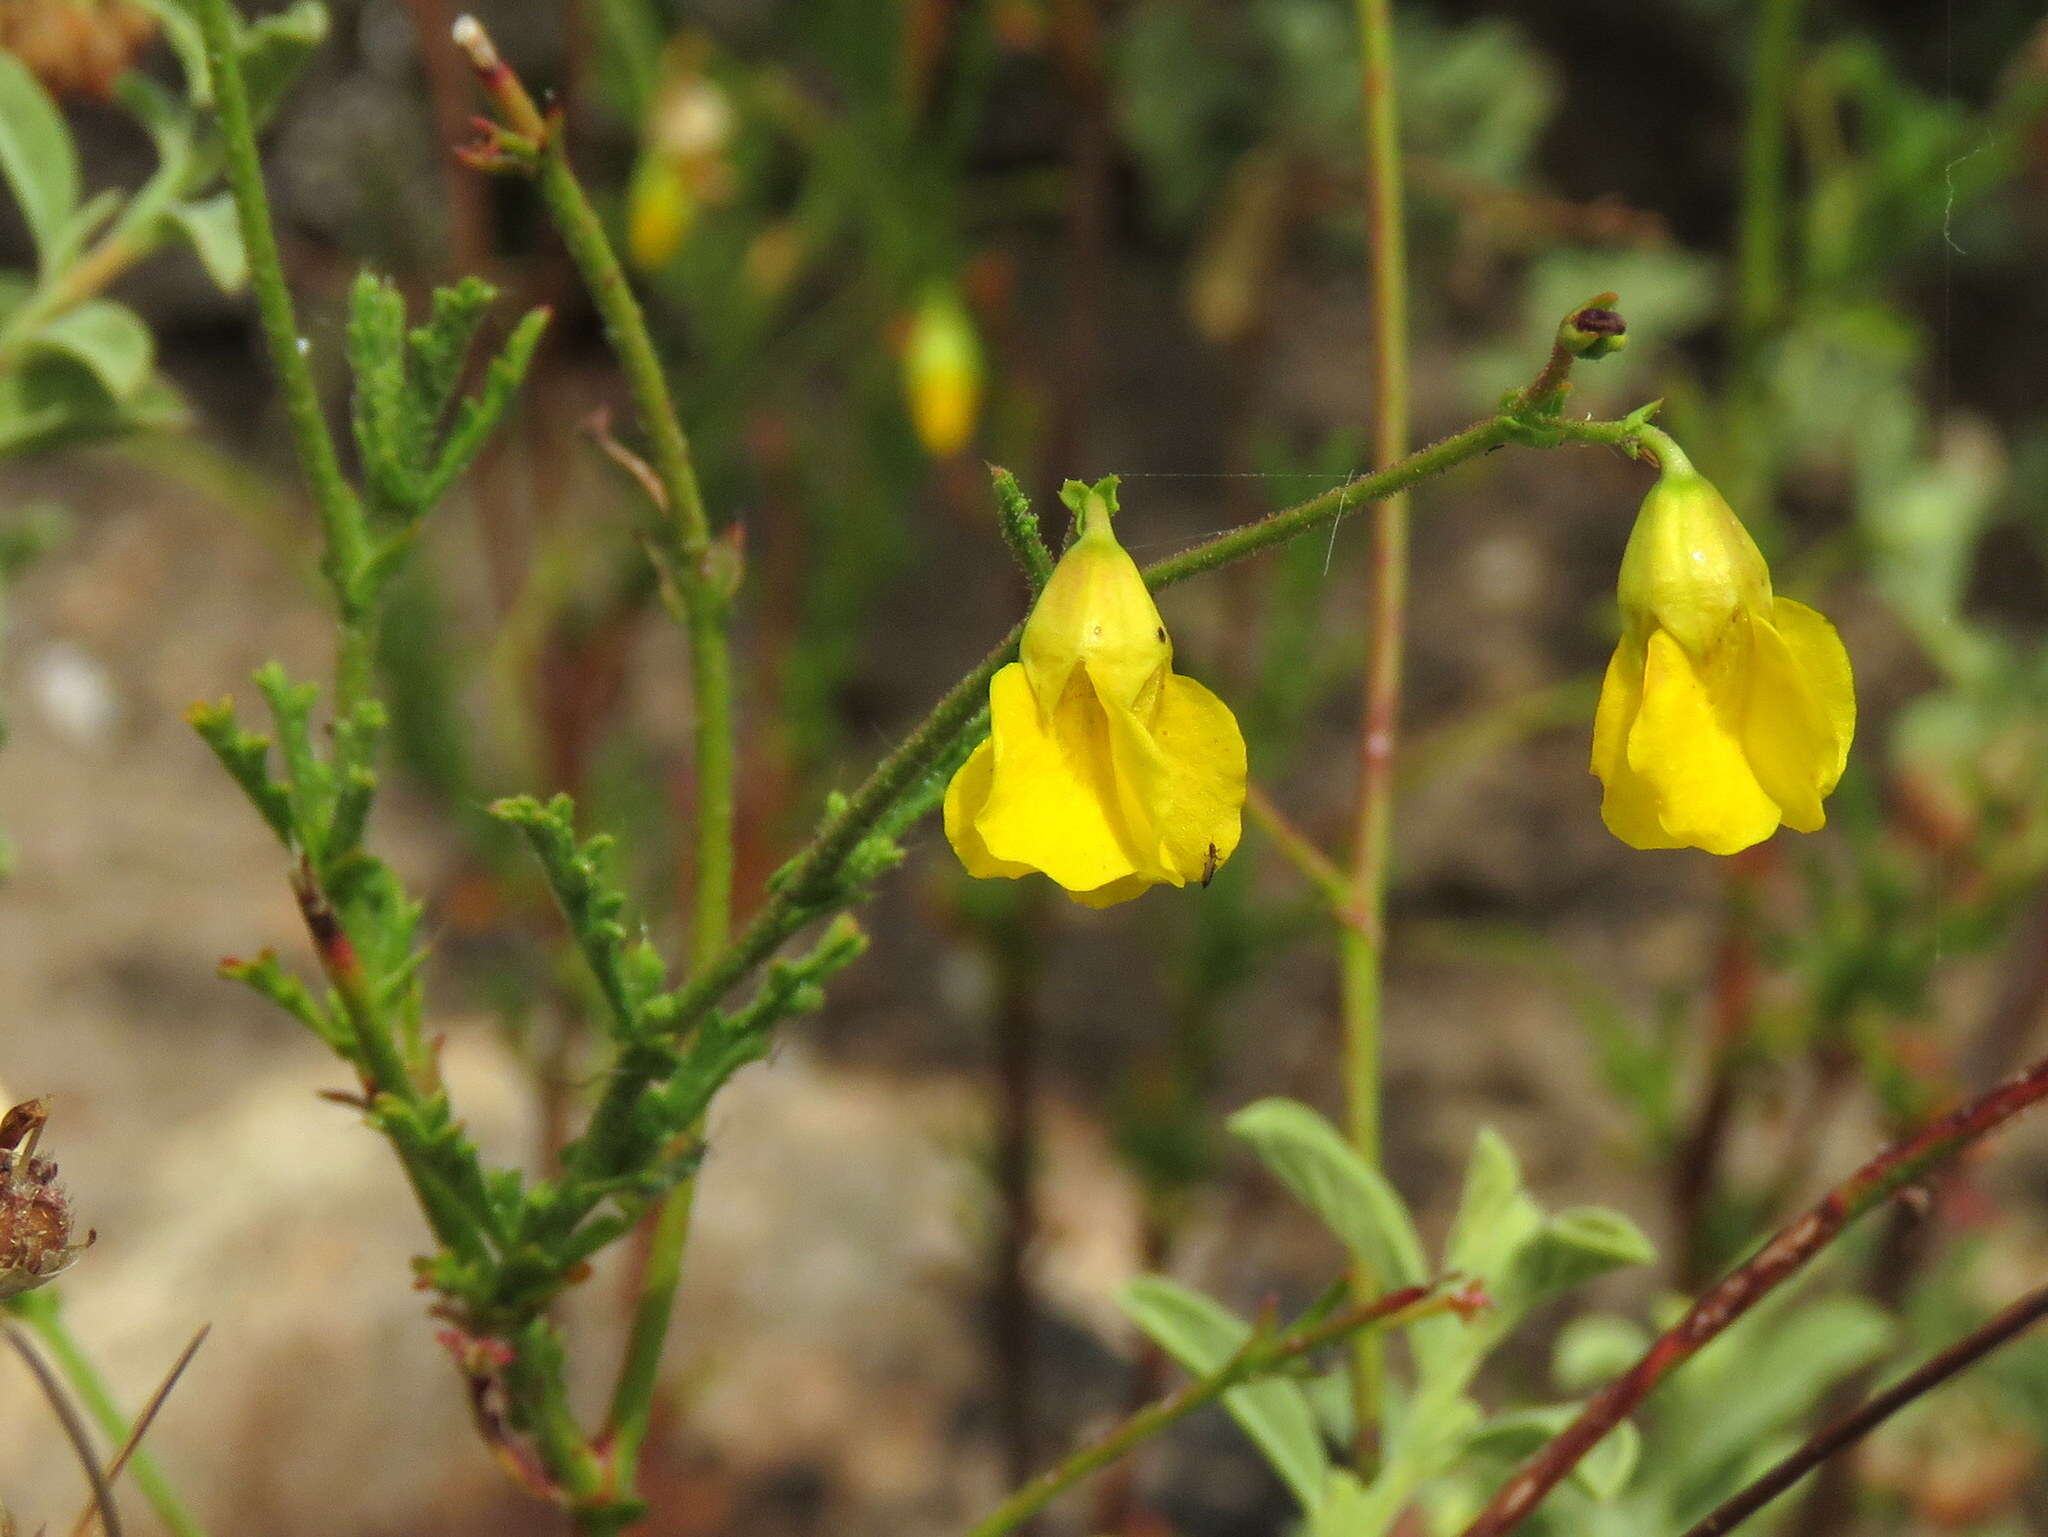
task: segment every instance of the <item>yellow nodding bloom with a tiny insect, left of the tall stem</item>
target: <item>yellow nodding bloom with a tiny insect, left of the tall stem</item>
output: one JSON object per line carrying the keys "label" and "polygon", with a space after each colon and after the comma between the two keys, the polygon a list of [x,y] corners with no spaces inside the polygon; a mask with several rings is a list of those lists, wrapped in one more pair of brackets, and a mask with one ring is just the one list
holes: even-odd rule
{"label": "yellow nodding bloom with a tiny insect, left of the tall stem", "polygon": [[1116,480],[1067,482],[1081,531],[989,682],[989,740],[946,787],[969,875],[1040,871],[1106,908],[1151,885],[1204,885],[1237,848],[1245,738],[1174,672],[1145,578],[1110,531]]}

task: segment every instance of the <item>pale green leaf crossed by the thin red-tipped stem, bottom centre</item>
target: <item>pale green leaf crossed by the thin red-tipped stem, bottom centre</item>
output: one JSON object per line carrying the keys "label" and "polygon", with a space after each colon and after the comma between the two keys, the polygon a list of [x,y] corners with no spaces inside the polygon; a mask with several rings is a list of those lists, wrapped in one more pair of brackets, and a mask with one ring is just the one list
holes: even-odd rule
{"label": "pale green leaf crossed by the thin red-tipped stem, bottom centre", "polygon": [[[1116,1305],[1198,1377],[1221,1371],[1251,1338],[1251,1326],[1229,1307],[1157,1275],[1122,1287]],[[1313,1512],[1323,1500],[1331,1463],[1300,1385],[1268,1377],[1233,1387],[1223,1406],[1294,1492],[1300,1508]]]}

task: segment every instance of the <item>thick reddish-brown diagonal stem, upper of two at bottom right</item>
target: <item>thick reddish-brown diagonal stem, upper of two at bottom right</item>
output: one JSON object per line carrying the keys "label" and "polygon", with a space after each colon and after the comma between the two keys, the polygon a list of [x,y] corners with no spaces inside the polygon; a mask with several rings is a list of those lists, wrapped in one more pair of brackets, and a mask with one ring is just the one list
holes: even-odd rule
{"label": "thick reddish-brown diagonal stem, upper of two at bottom right", "polygon": [[1464,1529],[1464,1537],[1501,1537],[1501,1533],[1522,1525],[1530,1510],[1579,1465],[1579,1459],[1651,1396],[1657,1383],[1780,1283],[1796,1275],[1851,1221],[2042,1098],[2048,1098],[2048,1057],[1989,1094],[1921,1127],[1905,1141],[1892,1144],[1821,1197],[1804,1215],[1780,1228],[1761,1250],[1722,1277],[1673,1328],[1659,1336],[1634,1367],[1595,1394],[1579,1418],[1550,1445],[1524,1463],[1479,1512],[1479,1519]]}

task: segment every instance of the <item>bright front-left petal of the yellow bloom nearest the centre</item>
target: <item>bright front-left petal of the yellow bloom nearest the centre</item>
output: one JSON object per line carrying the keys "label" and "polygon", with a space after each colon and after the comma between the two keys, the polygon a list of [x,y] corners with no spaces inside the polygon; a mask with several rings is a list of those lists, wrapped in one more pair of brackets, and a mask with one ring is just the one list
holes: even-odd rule
{"label": "bright front-left petal of the yellow bloom nearest the centre", "polygon": [[989,684],[989,795],[975,816],[989,857],[1044,871],[1069,891],[1139,875],[1116,801],[1110,728],[1094,689],[1075,678],[1044,717],[1024,668],[1012,662]]}

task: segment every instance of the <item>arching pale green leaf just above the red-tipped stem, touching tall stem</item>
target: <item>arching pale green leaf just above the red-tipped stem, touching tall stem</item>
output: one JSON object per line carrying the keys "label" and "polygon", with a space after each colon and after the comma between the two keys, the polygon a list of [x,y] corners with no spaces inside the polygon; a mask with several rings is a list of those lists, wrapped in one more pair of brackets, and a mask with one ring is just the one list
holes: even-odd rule
{"label": "arching pale green leaf just above the red-tipped stem, touching tall stem", "polygon": [[1290,1098],[1264,1098],[1233,1115],[1231,1131],[1372,1266],[1380,1285],[1419,1287],[1430,1279],[1401,1197],[1321,1115]]}

